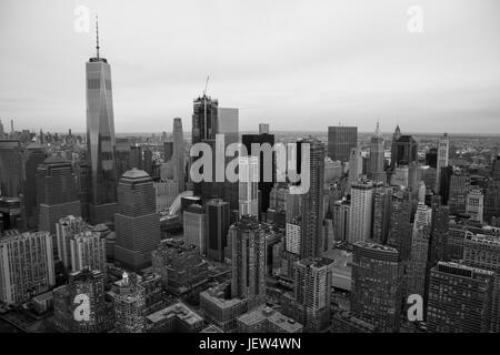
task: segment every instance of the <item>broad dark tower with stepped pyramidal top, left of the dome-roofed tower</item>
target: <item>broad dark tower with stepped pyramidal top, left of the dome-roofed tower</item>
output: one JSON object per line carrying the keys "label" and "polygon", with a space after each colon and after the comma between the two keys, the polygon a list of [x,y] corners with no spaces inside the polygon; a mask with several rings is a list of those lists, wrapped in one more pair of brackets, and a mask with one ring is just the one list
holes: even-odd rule
{"label": "broad dark tower with stepped pyramidal top, left of the dome-roofed tower", "polygon": [[81,215],[77,176],[70,161],[52,155],[37,170],[39,230],[56,233],[56,223],[67,215]]}

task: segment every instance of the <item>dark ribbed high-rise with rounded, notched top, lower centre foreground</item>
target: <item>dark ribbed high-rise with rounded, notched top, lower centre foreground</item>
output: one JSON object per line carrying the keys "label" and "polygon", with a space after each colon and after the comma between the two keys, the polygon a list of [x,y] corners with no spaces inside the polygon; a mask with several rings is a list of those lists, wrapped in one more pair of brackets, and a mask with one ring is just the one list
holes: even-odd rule
{"label": "dark ribbed high-rise with rounded, notched top, lower centre foreground", "polygon": [[244,215],[229,227],[231,297],[246,298],[249,308],[266,302],[266,237],[257,217]]}

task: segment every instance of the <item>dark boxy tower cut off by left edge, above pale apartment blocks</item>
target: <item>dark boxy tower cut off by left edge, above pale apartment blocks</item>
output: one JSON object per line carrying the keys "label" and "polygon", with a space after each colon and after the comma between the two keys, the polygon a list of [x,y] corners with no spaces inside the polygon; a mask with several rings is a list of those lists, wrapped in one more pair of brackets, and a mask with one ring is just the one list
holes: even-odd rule
{"label": "dark boxy tower cut off by left edge, above pale apartment blocks", "polygon": [[0,141],[0,196],[17,197],[23,187],[23,150],[16,140]]}

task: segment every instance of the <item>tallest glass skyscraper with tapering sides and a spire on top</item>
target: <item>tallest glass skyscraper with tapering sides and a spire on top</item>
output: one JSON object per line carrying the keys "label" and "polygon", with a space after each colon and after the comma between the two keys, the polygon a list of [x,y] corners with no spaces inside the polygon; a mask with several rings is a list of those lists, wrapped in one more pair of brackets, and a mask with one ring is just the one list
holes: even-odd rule
{"label": "tallest glass skyscraper with tapering sides and a spire on top", "polygon": [[114,165],[114,116],[111,89],[111,67],[97,55],[87,62],[87,160],[90,163],[90,222],[111,221],[117,203],[117,170]]}

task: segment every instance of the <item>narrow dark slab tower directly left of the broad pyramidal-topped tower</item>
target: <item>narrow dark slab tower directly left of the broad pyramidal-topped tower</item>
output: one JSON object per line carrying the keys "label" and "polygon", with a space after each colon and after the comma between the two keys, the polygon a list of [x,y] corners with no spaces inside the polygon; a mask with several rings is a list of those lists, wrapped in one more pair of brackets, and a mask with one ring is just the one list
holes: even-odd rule
{"label": "narrow dark slab tower directly left of the broad pyramidal-topped tower", "polygon": [[24,213],[27,227],[38,227],[38,203],[37,203],[37,170],[38,165],[47,159],[47,153],[39,143],[27,146],[24,158]]}

